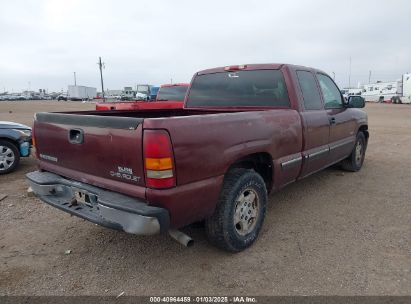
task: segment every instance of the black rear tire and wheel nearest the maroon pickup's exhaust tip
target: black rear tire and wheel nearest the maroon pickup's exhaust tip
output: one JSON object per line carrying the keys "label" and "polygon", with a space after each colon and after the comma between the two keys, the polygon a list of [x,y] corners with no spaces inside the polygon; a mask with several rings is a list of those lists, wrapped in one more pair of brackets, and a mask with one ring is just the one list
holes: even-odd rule
{"label": "black rear tire and wheel nearest the maroon pickup's exhaust tip", "polygon": [[[224,178],[214,214],[205,221],[208,239],[215,246],[230,252],[250,247],[261,230],[266,208],[267,189],[263,178],[250,169],[230,170]],[[236,217],[239,219],[237,223],[236,210],[239,215]],[[247,216],[250,217],[247,219]]]}

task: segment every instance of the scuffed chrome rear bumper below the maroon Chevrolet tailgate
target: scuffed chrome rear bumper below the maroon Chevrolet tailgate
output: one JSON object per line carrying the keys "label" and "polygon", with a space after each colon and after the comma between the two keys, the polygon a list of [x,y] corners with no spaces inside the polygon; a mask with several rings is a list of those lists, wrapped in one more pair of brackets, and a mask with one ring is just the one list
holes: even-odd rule
{"label": "scuffed chrome rear bumper below the maroon Chevrolet tailgate", "polygon": [[165,233],[169,229],[167,210],[137,198],[50,172],[30,172],[26,178],[43,202],[98,225],[137,235]]}

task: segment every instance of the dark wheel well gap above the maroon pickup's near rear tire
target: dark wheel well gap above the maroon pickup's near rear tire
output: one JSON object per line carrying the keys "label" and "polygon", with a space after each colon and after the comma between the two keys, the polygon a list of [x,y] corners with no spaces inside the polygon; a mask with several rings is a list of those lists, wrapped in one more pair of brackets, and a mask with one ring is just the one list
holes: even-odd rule
{"label": "dark wheel well gap above the maroon pickup's near rear tire", "polygon": [[264,179],[267,191],[270,192],[273,186],[273,161],[269,153],[254,153],[242,157],[232,164],[229,170],[232,168],[254,169]]}

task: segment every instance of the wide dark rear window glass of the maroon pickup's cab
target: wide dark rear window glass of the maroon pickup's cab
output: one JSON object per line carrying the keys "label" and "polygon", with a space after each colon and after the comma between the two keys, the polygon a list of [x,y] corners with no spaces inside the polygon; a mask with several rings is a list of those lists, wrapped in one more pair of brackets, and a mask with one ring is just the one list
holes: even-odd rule
{"label": "wide dark rear window glass of the maroon pickup's cab", "polygon": [[279,70],[235,71],[194,78],[187,106],[290,106]]}

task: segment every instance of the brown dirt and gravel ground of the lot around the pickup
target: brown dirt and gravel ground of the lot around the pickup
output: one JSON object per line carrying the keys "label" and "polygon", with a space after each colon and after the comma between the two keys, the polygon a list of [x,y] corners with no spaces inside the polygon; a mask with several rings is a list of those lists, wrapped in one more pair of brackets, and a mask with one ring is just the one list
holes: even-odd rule
{"label": "brown dirt and gravel ground of the lot around the pickup", "polygon": [[[92,109],[70,102],[0,102],[0,120]],[[201,227],[138,237],[27,197],[35,160],[0,176],[0,295],[410,295],[411,106],[367,104],[363,169],[337,168],[272,194],[258,241],[239,254]],[[71,250],[66,255],[65,251]]]}

